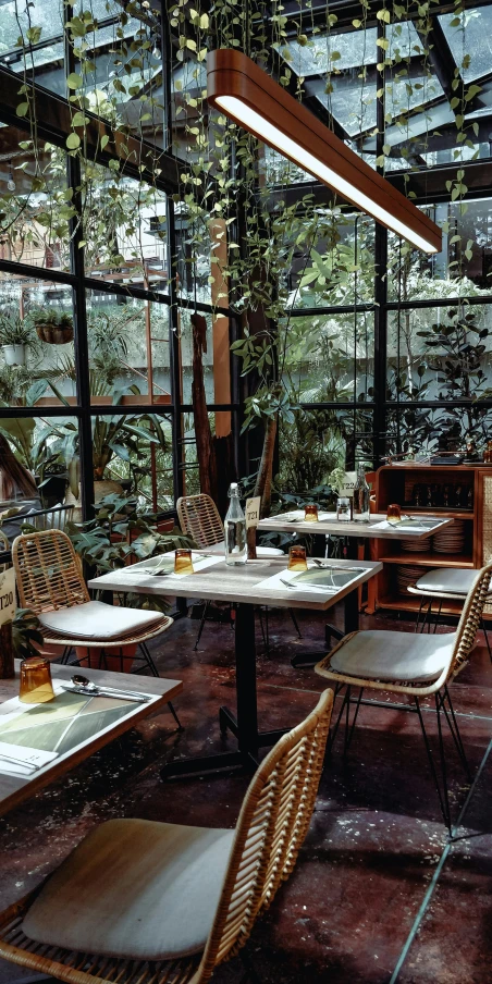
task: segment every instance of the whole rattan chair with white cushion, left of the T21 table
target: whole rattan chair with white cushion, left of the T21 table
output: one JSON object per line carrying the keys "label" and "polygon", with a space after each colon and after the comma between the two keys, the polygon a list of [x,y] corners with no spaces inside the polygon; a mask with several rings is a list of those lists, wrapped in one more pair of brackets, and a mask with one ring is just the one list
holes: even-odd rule
{"label": "whole rattan chair with white cushion, left of the T21 table", "polygon": [[[88,655],[98,650],[102,663],[106,656],[119,656],[124,672],[125,661],[135,660],[124,650],[136,645],[145,666],[159,676],[147,642],[171,628],[173,619],[90,601],[79,557],[66,533],[52,529],[23,533],[14,540],[12,561],[21,607],[38,616],[46,644],[62,648],[62,663],[77,647]],[[181,727],[171,702],[169,709]]]}

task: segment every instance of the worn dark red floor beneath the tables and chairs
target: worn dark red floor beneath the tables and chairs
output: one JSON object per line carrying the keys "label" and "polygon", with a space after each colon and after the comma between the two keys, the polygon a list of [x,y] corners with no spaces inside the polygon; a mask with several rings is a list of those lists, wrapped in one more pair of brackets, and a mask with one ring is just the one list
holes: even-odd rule
{"label": "worn dark red floor beneath the tables and chairs", "polygon": [[[294,671],[290,657],[303,647],[321,647],[323,620],[302,616],[299,641],[288,619],[271,613],[272,649],[266,655],[260,648],[258,656],[261,727],[293,725],[315,705],[322,681],[311,671]],[[383,617],[362,623],[413,629],[408,622]],[[163,676],[184,680],[176,701],[184,733],[173,730],[167,712],[149,718],[0,821],[2,907],[38,884],[106,819],[234,825],[246,777],[167,785],[159,779],[159,766],[170,757],[219,750],[217,711],[221,703],[234,704],[231,628],[207,624],[198,653],[193,651],[196,629],[196,622],[176,622],[158,655]],[[453,694],[475,773],[482,763],[459,838],[446,846],[414,715],[364,708],[348,759],[344,763],[335,746],[323,774],[297,868],[250,940],[265,984],[492,980],[492,757],[485,758],[492,739],[492,666],[482,637]],[[431,713],[426,721],[432,733]],[[450,771],[457,814],[467,790],[453,749]],[[238,984],[242,975],[235,959],[214,980]],[[0,962],[0,984],[32,976]]]}

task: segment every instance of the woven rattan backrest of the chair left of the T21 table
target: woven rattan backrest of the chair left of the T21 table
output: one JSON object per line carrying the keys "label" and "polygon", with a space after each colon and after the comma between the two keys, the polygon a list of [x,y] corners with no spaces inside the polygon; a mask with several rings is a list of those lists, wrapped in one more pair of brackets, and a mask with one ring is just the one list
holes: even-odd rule
{"label": "woven rattan backrest of the chair left of the T21 table", "polygon": [[90,600],[79,558],[62,530],[17,537],[12,561],[21,607],[39,615]]}

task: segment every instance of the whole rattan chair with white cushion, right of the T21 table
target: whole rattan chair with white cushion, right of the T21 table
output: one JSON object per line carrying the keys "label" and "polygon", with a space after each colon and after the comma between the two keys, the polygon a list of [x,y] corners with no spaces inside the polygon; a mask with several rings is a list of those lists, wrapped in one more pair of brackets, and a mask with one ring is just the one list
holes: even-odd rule
{"label": "whole rattan chair with white cushion, right of the T21 table", "polygon": [[[475,579],[466,596],[456,632],[432,636],[415,636],[413,632],[384,630],[352,632],[345,636],[315,667],[319,676],[335,682],[335,697],[345,690],[330,739],[332,746],[345,710],[345,751],[354,735],[360,704],[366,703],[362,701],[362,693],[366,689],[391,690],[409,698],[409,703],[384,703],[384,706],[392,710],[414,711],[418,715],[430,770],[448,829],[451,829],[451,809],[442,734],[444,719],[450,727],[467,778],[470,778],[458,723],[451,702],[448,684],[468,660],[482,618],[483,605],[489,596],[491,576],[492,563],[475,573]],[[352,697],[353,688],[358,689],[357,697]],[[420,701],[428,697],[433,698],[435,706],[441,782],[420,708]],[[355,704],[355,711],[350,724],[352,703]],[[379,706],[381,705],[380,703]]]}

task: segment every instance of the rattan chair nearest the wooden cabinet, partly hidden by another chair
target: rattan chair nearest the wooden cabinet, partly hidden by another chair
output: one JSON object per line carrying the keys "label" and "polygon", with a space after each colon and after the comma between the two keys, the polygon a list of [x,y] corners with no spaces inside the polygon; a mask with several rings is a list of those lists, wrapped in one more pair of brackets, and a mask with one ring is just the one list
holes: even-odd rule
{"label": "rattan chair nearest the wooden cabinet, partly hidden by another chair", "polygon": [[[473,582],[477,571],[465,567],[438,567],[434,570],[427,570],[422,577],[419,577],[415,585],[409,585],[407,591],[410,594],[420,596],[420,607],[417,613],[415,623],[415,631],[430,632],[431,622],[434,622],[434,632],[441,618],[442,606],[445,601],[464,602],[470,587]],[[492,591],[489,592],[492,594]],[[490,603],[489,598],[489,603]],[[435,602],[436,611],[432,612],[432,605]],[[427,606],[427,608],[426,608]],[[484,619],[481,619],[481,628],[485,637],[489,657],[492,662],[492,650],[489,641],[489,634]]]}

